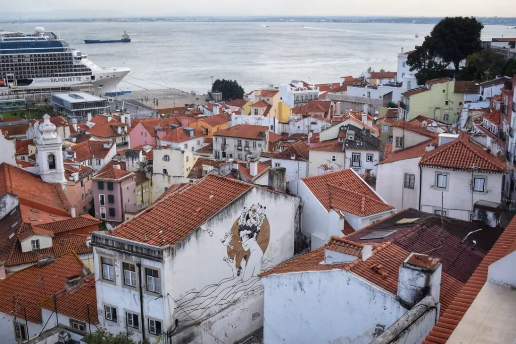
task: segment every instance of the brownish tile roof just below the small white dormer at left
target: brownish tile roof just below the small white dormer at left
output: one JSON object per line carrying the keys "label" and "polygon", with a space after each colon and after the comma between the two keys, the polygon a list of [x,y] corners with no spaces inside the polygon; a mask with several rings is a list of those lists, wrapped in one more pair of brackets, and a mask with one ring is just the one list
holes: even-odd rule
{"label": "brownish tile roof just below the small white dormer at left", "polygon": [[[23,226],[30,225],[24,224]],[[91,247],[86,246],[86,238],[87,236],[85,235],[73,233],[56,235],[52,238],[52,247],[28,252],[22,252],[20,243],[17,243],[12,255],[6,261],[6,265],[17,266],[34,264],[38,261],[38,258],[42,256],[58,257],[68,252],[74,252],[79,255],[90,254],[93,251]]]}

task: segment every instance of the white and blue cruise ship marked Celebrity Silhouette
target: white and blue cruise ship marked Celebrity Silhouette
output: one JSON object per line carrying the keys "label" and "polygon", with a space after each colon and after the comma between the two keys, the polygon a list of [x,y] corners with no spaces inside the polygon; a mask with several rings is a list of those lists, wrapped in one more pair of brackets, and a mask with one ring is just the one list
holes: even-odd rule
{"label": "white and blue cruise ship marked Celebrity Silhouette", "polygon": [[101,68],[53,32],[34,34],[0,30],[0,94],[85,90],[104,95],[129,68]]}

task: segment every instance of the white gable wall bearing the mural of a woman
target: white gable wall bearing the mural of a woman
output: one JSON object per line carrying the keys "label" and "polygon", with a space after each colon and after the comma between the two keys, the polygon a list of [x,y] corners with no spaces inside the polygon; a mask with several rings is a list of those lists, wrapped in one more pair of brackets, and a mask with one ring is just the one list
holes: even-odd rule
{"label": "white gable wall bearing the mural of a woman", "polygon": [[[243,251],[237,234],[244,207],[257,204],[266,207],[266,220],[257,237],[261,250],[265,248],[262,258],[260,250],[253,250],[250,255]],[[178,336],[192,335],[190,338],[199,341],[200,332],[208,331],[232,343],[242,333],[251,333],[263,325],[263,285],[257,274],[293,256],[295,214],[294,197],[253,188],[171,249],[165,266],[172,279],[167,279],[165,293],[167,299],[175,300],[173,317],[181,327],[200,322],[204,329],[189,326],[180,330]],[[226,234],[233,234],[234,250],[221,242]],[[244,255],[248,257],[247,263]],[[244,267],[241,275],[234,275],[228,258]],[[244,296],[248,301],[241,303]],[[236,314],[221,316],[231,308],[237,309]],[[236,320],[238,314],[240,318]],[[215,342],[213,337],[203,336],[206,341],[200,342]]]}

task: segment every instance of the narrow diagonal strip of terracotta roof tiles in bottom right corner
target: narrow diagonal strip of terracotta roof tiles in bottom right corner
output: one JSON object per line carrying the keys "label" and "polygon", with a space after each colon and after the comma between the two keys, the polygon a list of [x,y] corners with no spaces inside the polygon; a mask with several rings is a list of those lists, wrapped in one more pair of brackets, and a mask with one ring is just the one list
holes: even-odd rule
{"label": "narrow diagonal strip of terracotta roof tiles in bottom right corner", "polygon": [[423,340],[422,344],[444,344],[457,328],[464,314],[470,308],[483,285],[487,282],[489,266],[513,252],[516,244],[516,219],[512,219],[504,233],[496,240],[487,255],[471,275],[470,279],[456,294],[453,301],[441,314],[439,321]]}

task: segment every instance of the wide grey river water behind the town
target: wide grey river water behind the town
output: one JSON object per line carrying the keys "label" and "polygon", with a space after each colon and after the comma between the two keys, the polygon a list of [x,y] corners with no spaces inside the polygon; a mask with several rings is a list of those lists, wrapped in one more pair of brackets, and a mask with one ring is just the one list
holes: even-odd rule
{"label": "wide grey river water behind the town", "polygon": [[[292,79],[329,83],[372,67],[396,70],[401,47],[413,50],[433,25],[370,23],[142,22],[3,24],[31,32],[36,26],[60,35],[100,67],[132,72],[120,89],[166,87],[205,93],[211,76],[236,79],[246,91]],[[265,27],[269,25],[269,27]],[[304,26],[304,27],[303,27]],[[85,44],[84,39],[131,43]],[[419,38],[415,38],[415,35]],[[507,26],[486,26],[483,40],[516,36]],[[131,83],[132,85],[128,84]]]}

